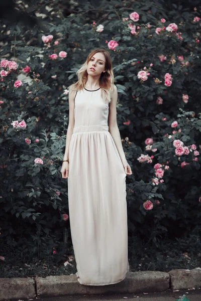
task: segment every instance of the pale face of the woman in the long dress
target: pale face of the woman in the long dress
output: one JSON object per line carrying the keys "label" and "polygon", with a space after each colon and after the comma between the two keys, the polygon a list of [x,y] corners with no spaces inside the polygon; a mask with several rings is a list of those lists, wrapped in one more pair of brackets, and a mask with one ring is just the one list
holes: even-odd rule
{"label": "pale face of the woman in the long dress", "polygon": [[87,73],[91,76],[100,75],[105,71],[106,58],[101,52],[96,52],[89,60],[87,65]]}

